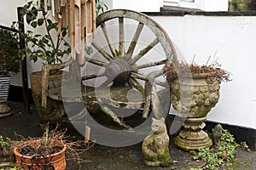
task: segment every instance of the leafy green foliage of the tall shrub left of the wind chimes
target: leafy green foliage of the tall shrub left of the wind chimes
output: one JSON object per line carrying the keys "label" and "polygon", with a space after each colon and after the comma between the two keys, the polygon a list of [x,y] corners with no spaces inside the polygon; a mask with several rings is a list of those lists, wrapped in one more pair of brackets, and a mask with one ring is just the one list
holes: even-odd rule
{"label": "leafy green foliage of the tall shrub left of the wind chimes", "polygon": [[[43,28],[45,34],[34,34],[32,31],[20,32],[21,37],[26,40],[26,52],[30,54],[29,59],[36,62],[38,58],[43,59],[47,64],[62,62],[65,55],[70,54],[70,45],[66,41],[67,27],[62,27],[58,32],[58,22],[49,19],[49,13],[44,11],[44,1],[42,8],[32,2],[26,3],[20,9],[21,17],[26,16],[26,23],[32,28]],[[13,26],[18,24],[13,22]],[[29,46],[30,45],[30,46]],[[21,51],[21,54],[23,51]],[[23,53],[24,54],[24,53]]]}

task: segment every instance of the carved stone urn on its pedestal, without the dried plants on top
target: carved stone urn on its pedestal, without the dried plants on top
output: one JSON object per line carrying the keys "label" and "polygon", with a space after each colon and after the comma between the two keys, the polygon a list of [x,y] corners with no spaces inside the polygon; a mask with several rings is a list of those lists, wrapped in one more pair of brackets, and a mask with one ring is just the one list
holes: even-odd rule
{"label": "carved stone urn on its pedestal, without the dried plants on top", "polygon": [[171,82],[172,105],[178,116],[185,118],[183,129],[174,144],[182,150],[198,150],[212,146],[212,139],[202,129],[207,113],[219,98],[219,83],[206,74],[179,77]]}

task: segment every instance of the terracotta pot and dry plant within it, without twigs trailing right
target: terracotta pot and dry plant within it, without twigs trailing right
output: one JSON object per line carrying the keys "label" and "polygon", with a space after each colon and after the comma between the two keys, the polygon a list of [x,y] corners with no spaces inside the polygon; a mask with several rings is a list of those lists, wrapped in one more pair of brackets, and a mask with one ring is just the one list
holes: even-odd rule
{"label": "terracotta pot and dry plant within it, without twigs trailing right", "polygon": [[66,169],[64,135],[65,131],[57,127],[50,132],[46,127],[42,138],[17,141],[14,144],[16,163],[25,170]]}

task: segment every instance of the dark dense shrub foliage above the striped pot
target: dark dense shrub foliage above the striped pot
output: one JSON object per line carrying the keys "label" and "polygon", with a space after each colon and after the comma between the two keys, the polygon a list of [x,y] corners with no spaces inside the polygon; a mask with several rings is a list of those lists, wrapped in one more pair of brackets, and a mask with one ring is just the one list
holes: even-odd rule
{"label": "dark dense shrub foliage above the striped pot", "polygon": [[15,33],[0,28],[0,74],[20,71],[19,42]]}

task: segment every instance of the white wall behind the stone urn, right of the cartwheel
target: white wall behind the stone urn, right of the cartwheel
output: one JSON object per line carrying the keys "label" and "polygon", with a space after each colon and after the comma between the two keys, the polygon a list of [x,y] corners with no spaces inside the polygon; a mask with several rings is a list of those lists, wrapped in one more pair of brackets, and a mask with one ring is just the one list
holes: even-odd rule
{"label": "white wall behind the stone urn, right of the cartwheel", "polygon": [[256,16],[154,16],[187,62],[206,64],[215,54],[232,73],[221,84],[208,120],[256,128]]}

